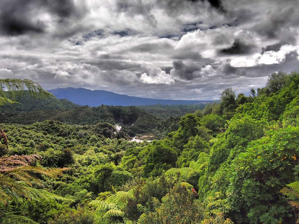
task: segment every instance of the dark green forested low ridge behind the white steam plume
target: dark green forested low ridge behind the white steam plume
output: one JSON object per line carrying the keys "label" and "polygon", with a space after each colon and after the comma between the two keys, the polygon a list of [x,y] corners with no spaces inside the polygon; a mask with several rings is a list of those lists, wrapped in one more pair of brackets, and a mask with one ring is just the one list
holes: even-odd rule
{"label": "dark green forested low ridge behind the white steam plume", "polygon": [[46,120],[58,120],[70,125],[94,125],[100,122],[127,127],[130,136],[145,133],[158,125],[159,119],[134,106],[100,107],[79,106],[65,99],[32,100],[23,94],[18,104],[0,108],[0,122],[33,124]]}

